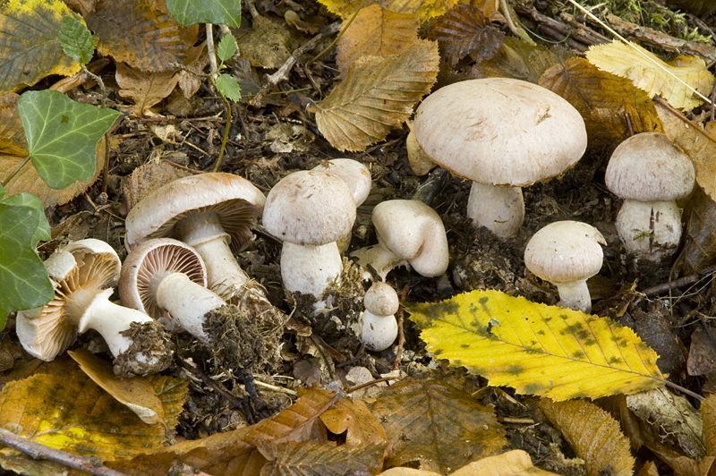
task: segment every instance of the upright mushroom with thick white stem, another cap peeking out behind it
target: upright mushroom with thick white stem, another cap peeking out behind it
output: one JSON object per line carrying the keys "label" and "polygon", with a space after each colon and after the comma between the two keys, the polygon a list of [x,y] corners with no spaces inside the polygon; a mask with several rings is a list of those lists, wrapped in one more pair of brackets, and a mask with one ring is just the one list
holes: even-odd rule
{"label": "upright mushroom with thick white stem, another cap peeking out behind it", "polygon": [[337,175],[299,171],[268,192],[263,225],[283,240],[284,287],[320,298],[339,279],[343,261],[336,241],[350,233],[355,202]]}

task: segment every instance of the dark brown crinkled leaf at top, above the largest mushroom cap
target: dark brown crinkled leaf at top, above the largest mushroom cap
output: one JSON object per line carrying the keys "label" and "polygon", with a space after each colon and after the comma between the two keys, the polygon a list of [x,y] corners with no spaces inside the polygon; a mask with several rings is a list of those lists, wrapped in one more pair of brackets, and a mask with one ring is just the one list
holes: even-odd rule
{"label": "dark brown crinkled leaf at top, above the largest mushroom cap", "polygon": [[505,33],[493,28],[490,19],[472,4],[458,5],[441,16],[432,28],[430,38],[439,42],[447,55],[447,63],[455,67],[466,55],[482,63],[497,53]]}

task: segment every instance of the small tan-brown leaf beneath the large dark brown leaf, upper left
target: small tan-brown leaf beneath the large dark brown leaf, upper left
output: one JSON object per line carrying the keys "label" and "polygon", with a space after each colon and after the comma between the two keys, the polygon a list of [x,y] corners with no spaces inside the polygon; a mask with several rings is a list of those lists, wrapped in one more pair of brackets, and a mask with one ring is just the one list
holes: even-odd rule
{"label": "small tan-brown leaf beneath the large dark brown leaf, upper left", "polygon": [[140,117],[168,97],[179,81],[175,72],[141,72],[123,63],[117,63],[115,78],[119,95],[134,101],[134,115]]}

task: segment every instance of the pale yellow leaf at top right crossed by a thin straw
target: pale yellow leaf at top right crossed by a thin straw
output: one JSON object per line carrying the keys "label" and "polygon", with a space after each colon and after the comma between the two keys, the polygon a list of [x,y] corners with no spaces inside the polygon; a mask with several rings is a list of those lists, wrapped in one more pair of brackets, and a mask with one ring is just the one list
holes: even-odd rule
{"label": "pale yellow leaf at top right crossed by a thin straw", "polygon": [[[660,95],[671,106],[690,110],[699,106],[699,99],[691,89],[686,89],[681,81],[696,89],[703,95],[711,92],[713,76],[706,70],[703,59],[696,56],[678,56],[670,63],[664,63],[659,56],[650,53],[643,47],[635,45],[644,55],[620,41],[606,45],[595,45],[587,51],[587,59],[603,71],[608,71],[622,78],[628,78],[634,85],[646,91],[650,98]],[[671,74],[664,72],[662,68]]]}

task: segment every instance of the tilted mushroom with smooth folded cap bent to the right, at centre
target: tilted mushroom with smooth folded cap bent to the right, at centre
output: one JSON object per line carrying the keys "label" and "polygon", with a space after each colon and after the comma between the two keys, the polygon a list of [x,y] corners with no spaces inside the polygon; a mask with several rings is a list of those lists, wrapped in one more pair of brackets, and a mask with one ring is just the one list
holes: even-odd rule
{"label": "tilted mushroom with smooth folded cap bent to the right, at centre", "polygon": [[440,276],[449,254],[445,226],[438,213],[419,200],[387,200],[373,208],[378,244],[351,253],[385,280],[388,272],[410,264],[422,276]]}

